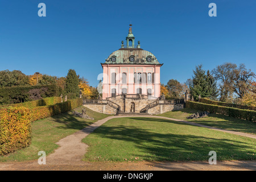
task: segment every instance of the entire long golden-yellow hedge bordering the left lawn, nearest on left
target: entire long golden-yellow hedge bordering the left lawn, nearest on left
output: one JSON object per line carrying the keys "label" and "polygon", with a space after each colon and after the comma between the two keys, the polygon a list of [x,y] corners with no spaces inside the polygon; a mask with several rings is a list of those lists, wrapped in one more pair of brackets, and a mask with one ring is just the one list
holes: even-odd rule
{"label": "entire long golden-yellow hedge bordering the left lawn, nearest on left", "polygon": [[82,98],[75,98],[49,106],[2,107],[0,109],[0,156],[30,145],[31,122],[67,112],[81,105]]}

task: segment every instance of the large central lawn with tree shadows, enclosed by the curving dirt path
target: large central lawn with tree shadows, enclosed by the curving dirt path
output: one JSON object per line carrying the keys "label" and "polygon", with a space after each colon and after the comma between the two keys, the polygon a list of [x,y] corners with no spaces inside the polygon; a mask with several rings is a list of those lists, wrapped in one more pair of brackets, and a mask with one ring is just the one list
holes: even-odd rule
{"label": "large central lawn with tree shadows, enclosed by the curving dirt path", "polygon": [[185,161],[256,160],[256,140],[161,118],[114,118],[82,142],[89,145],[84,160]]}

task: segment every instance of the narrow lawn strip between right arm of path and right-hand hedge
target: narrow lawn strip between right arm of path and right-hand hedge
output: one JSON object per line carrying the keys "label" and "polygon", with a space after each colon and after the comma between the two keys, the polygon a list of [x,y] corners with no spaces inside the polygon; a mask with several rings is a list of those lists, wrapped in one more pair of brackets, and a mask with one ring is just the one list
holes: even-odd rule
{"label": "narrow lawn strip between right arm of path and right-hand hedge", "polygon": [[163,114],[158,114],[163,117],[183,119],[190,122],[201,123],[207,126],[218,127],[221,129],[240,131],[243,133],[249,133],[256,135],[256,122],[245,121],[242,119],[227,117],[220,114],[210,114],[208,117],[199,119],[187,119],[188,115],[197,113],[197,110],[181,109],[176,111],[170,111]]}

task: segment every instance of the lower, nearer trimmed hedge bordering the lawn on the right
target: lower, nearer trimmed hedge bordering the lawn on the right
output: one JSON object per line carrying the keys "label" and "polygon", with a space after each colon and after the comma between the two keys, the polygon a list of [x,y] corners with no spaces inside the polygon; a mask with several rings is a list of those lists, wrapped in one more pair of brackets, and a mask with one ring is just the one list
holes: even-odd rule
{"label": "lower, nearer trimmed hedge bordering the lawn on the right", "polygon": [[229,117],[246,119],[248,121],[256,121],[256,111],[237,109],[234,107],[224,107],[218,105],[203,104],[200,102],[186,101],[186,107],[201,111],[208,111],[209,113],[222,114]]}

